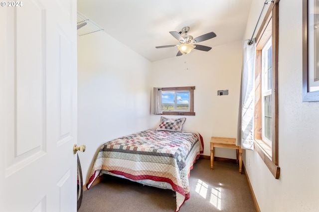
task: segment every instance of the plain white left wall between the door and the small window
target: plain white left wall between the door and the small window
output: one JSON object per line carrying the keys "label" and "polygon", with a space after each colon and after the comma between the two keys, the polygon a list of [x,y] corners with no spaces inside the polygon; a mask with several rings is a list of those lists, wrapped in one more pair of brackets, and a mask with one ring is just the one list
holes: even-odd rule
{"label": "plain white left wall between the door and the small window", "polygon": [[78,36],[78,145],[84,182],[103,143],[149,128],[150,62],[105,32]]}

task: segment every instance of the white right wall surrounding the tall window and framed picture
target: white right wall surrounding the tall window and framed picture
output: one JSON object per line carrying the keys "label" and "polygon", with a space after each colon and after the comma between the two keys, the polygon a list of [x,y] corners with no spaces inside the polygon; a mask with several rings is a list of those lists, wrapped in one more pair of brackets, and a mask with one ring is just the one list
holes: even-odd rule
{"label": "white right wall surrounding the tall window and framed picture", "polygon": [[[253,2],[249,39],[264,0]],[[245,167],[262,212],[319,210],[319,102],[302,102],[302,0],[279,3],[279,166],[276,180],[256,151]]]}

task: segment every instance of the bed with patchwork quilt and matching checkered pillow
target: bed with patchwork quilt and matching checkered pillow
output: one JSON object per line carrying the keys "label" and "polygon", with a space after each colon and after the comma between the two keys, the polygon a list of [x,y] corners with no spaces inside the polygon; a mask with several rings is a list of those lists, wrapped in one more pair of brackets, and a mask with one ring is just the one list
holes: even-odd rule
{"label": "bed with patchwork quilt and matching checkered pillow", "polygon": [[198,132],[182,131],[185,118],[161,117],[156,129],[148,129],[106,142],[93,165],[89,189],[102,174],[129,179],[176,192],[176,209],[189,199],[188,177],[203,153]]}

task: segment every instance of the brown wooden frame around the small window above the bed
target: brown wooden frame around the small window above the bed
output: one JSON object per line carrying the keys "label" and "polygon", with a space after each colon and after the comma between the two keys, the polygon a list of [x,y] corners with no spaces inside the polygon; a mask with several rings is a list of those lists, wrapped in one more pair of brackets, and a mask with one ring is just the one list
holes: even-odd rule
{"label": "brown wooden frame around the small window above the bed", "polygon": [[163,91],[165,91],[165,92],[181,92],[181,91],[189,92],[189,111],[162,111],[162,114],[163,115],[195,115],[195,112],[194,112],[194,90],[195,90],[195,86],[161,88],[162,92]]}

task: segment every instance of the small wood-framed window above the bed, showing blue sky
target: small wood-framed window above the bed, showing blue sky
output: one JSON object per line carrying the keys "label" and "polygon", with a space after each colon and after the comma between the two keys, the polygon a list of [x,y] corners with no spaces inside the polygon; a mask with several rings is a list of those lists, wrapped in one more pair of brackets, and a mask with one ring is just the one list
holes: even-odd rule
{"label": "small wood-framed window above the bed, showing blue sky", "polygon": [[164,115],[195,115],[192,87],[161,88],[161,106]]}

